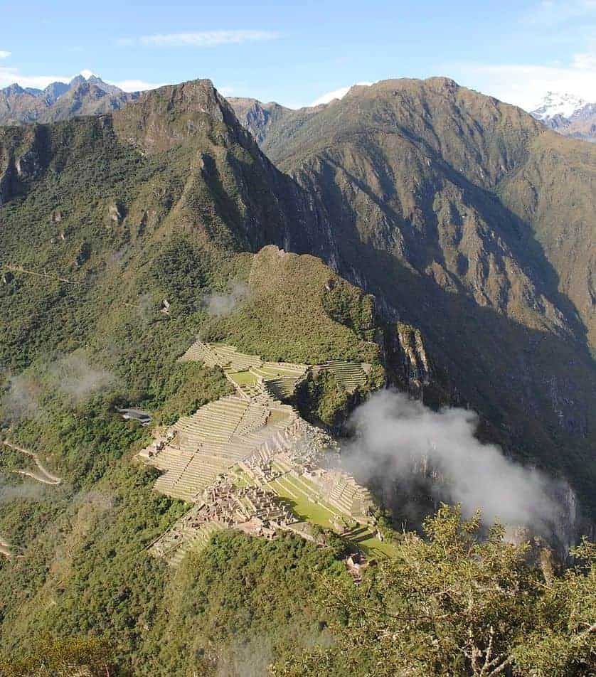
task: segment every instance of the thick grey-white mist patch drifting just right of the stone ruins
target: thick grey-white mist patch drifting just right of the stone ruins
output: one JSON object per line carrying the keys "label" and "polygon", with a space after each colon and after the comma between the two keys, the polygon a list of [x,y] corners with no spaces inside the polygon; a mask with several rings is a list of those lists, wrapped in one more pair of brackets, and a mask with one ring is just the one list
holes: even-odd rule
{"label": "thick grey-white mist patch drifting just right of the stone ruins", "polygon": [[344,452],[348,469],[363,481],[382,481],[385,490],[422,481],[435,500],[461,503],[466,516],[479,508],[485,522],[538,533],[550,533],[563,509],[555,499],[561,483],[480,442],[472,411],[435,412],[383,390],[353,412],[350,424],[356,436]]}

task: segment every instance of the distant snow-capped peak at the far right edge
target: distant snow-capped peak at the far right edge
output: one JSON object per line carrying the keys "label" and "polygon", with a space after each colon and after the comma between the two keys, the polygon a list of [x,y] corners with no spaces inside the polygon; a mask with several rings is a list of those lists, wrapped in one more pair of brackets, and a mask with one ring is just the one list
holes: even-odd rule
{"label": "distant snow-capped peak at the far right edge", "polygon": [[596,141],[596,104],[570,94],[548,92],[531,112],[537,120],[568,137]]}

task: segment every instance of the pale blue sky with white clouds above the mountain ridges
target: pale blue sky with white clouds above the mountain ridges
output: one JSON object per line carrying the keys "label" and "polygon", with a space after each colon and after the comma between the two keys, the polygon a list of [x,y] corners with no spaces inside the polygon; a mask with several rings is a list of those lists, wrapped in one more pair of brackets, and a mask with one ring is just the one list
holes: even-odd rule
{"label": "pale blue sky with white clouds above the mountain ridges", "polygon": [[596,0],[0,0],[0,87],[82,70],[127,91],[210,78],[294,108],[432,75],[526,110],[549,90],[596,102]]}

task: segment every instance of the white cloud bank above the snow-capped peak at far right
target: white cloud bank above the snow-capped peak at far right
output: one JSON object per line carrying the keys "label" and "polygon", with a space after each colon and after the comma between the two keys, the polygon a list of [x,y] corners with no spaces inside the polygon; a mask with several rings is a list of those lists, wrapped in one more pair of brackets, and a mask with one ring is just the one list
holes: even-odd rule
{"label": "white cloud bank above the snow-capped peak at far right", "polygon": [[569,92],[596,102],[596,53],[578,53],[570,65],[457,64],[447,67],[462,85],[533,110],[546,92]]}

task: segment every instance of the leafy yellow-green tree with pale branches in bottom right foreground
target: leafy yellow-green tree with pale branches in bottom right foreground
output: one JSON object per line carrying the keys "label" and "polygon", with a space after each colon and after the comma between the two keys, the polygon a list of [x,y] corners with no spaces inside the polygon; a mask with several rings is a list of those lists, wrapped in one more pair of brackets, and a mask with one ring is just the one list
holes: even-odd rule
{"label": "leafy yellow-green tree with pale branches in bottom right foreground", "polygon": [[596,668],[595,546],[561,577],[531,563],[531,544],[483,538],[442,506],[425,535],[405,534],[398,557],[369,567],[359,586],[319,578],[336,607],[336,644],[274,666],[277,676],[358,671],[374,677],[588,676]]}

